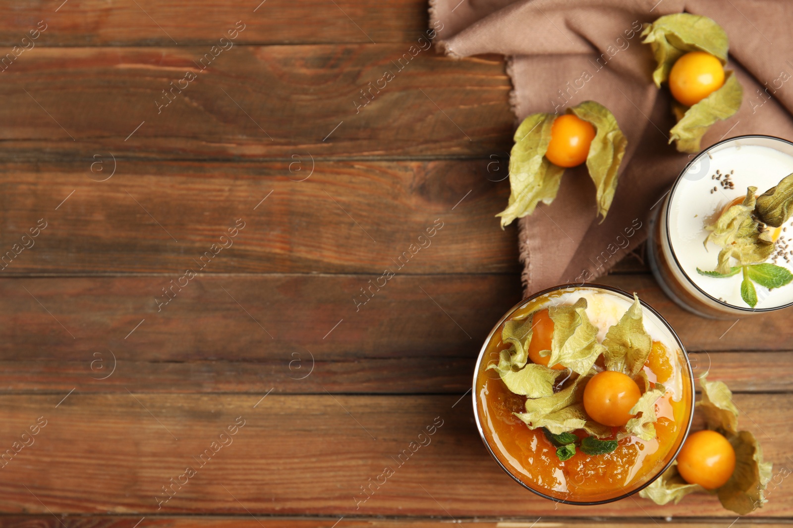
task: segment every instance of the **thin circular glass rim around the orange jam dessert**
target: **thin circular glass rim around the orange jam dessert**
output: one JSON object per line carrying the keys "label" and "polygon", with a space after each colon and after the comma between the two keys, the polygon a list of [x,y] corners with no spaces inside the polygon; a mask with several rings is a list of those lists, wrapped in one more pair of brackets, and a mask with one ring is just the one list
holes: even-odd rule
{"label": "thin circular glass rim around the orange jam dessert", "polygon": [[478,378],[479,370],[481,368],[482,359],[484,359],[484,357],[485,357],[485,351],[487,351],[488,344],[490,343],[490,340],[492,340],[492,336],[496,333],[496,331],[504,323],[504,321],[506,321],[507,318],[509,316],[511,316],[512,313],[515,313],[515,311],[518,310],[521,306],[523,306],[527,302],[533,301],[535,298],[542,297],[543,295],[550,294],[550,293],[552,293],[554,291],[575,289],[575,288],[584,288],[584,287],[592,288],[592,289],[596,289],[596,290],[610,291],[611,293],[620,294],[620,295],[623,295],[626,298],[633,299],[633,295],[629,294],[628,292],[626,292],[626,291],[624,291],[624,290],[622,290],[622,289],[620,289],[618,287],[613,287],[613,286],[608,286],[607,284],[598,284],[598,283],[586,283],[585,286],[584,285],[580,285],[580,284],[575,284],[575,283],[560,284],[558,286],[554,286],[554,287],[546,288],[545,290],[542,290],[542,291],[538,291],[537,293],[531,294],[529,297],[524,298],[523,300],[521,300],[520,302],[515,304],[515,306],[512,306],[506,313],[504,313],[504,315],[499,319],[499,321],[496,323],[496,325],[493,326],[492,330],[490,330],[490,332],[488,332],[488,336],[485,337],[485,343],[482,345],[481,351],[479,351],[479,355],[477,356],[477,363],[476,363],[476,366],[474,367],[474,370],[473,370],[473,384],[471,386],[472,387],[471,388],[471,393],[472,393],[471,394],[471,400],[472,400],[472,403],[473,403],[473,419],[474,419],[474,421],[477,424],[477,431],[479,431],[479,436],[482,439],[482,443],[485,444],[485,447],[487,448],[488,453],[493,458],[493,460],[496,461],[496,464],[498,464],[500,466],[500,468],[504,471],[504,473],[507,473],[512,478],[513,481],[517,482],[518,484],[523,486],[523,488],[526,488],[527,490],[529,490],[530,492],[534,493],[535,495],[541,496],[543,499],[552,500],[555,503],[573,504],[574,506],[596,506],[598,504],[607,504],[607,503],[616,502],[618,500],[623,500],[623,499],[625,499],[625,498],[627,498],[627,497],[629,497],[631,495],[634,495],[635,493],[638,493],[638,492],[642,491],[642,489],[646,488],[650,484],[653,484],[653,482],[656,481],[658,477],[661,477],[661,475],[663,475],[666,472],[667,469],[672,467],[672,462],[675,462],[675,459],[677,458],[677,455],[680,454],[680,450],[683,448],[683,444],[685,443],[685,439],[688,438],[688,433],[691,431],[691,423],[694,420],[694,402],[695,402],[695,392],[696,392],[695,386],[694,386],[694,371],[691,369],[691,360],[688,359],[688,351],[686,351],[686,348],[683,346],[682,341],[680,341],[680,337],[677,336],[677,332],[675,332],[675,330],[672,329],[672,326],[669,325],[668,321],[666,321],[666,319],[663,316],[661,316],[661,313],[658,313],[657,310],[655,310],[652,306],[649,306],[649,304],[647,304],[646,302],[642,301],[641,298],[639,299],[639,303],[641,304],[642,309],[649,310],[650,313],[653,313],[653,315],[655,317],[657,317],[658,320],[661,321],[661,323],[663,323],[663,325],[666,327],[666,329],[668,329],[668,331],[672,334],[672,337],[674,337],[676,343],[680,347],[680,351],[683,353],[683,357],[685,359],[686,371],[688,372],[688,382],[690,383],[690,386],[691,386],[691,405],[689,405],[690,412],[688,413],[688,424],[686,424],[685,431],[684,431],[683,437],[682,437],[683,439],[680,442],[680,445],[677,446],[677,449],[675,450],[674,454],[672,455],[671,458],[669,458],[668,462],[664,465],[664,467],[661,468],[651,479],[646,481],[644,484],[642,484],[638,488],[635,488],[634,490],[632,490],[630,492],[624,492],[623,495],[616,496],[616,497],[614,497],[612,499],[595,500],[595,501],[575,501],[575,500],[567,500],[567,499],[557,499],[556,497],[552,497],[552,496],[546,495],[545,493],[543,493],[543,492],[541,492],[541,491],[539,491],[537,489],[531,488],[531,486],[525,484],[518,477],[516,477],[511,472],[511,470],[508,469],[504,465],[504,463],[502,463],[500,461],[500,459],[496,456],[496,453],[493,451],[492,446],[490,446],[490,443],[488,443],[488,440],[485,438],[485,431],[482,428],[481,417],[479,416],[479,410],[477,408],[477,400],[478,400],[478,396],[477,396],[477,378]]}

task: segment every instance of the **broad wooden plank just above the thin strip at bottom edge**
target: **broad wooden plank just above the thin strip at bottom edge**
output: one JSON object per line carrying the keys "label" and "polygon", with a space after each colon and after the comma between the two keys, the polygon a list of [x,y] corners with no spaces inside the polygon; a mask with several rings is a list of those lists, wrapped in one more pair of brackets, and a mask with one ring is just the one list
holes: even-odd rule
{"label": "broad wooden plank just above the thin strip at bottom edge", "polygon": [[[39,416],[48,420],[35,443],[3,468],[0,510],[54,513],[418,515],[581,515],[527,492],[487,454],[473,424],[469,398],[454,396],[245,396],[132,394],[2,396],[3,445],[11,446]],[[262,393],[263,396],[263,393]],[[775,474],[791,466],[791,425],[779,409],[793,395],[737,395],[741,428],[762,442]],[[56,407],[57,405],[57,407]],[[236,420],[241,416],[239,420]],[[439,417],[439,418],[436,418]],[[232,443],[201,466],[198,454],[238,421]],[[441,421],[442,420],[442,421]],[[425,427],[441,425],[431,443],[399,466],[393,458]],[[225,440],[228,443],[228,439]],[[354,496],[386,465],[395,474],[358,503]],[[196,474],[163,486],[192,467]],[[23,487],[21,484],[25,484]],[[169,484],[170,485],[170,484]],[[769,492],[763,518],[793,516],[793,488]],[[161,509],[158,511],[158,504]],[[711,496],[655,506],[639,498],[588,507],[587,515],[646,519],[704,516],[735,519]],[[140,517],[138,517],[140,519]]]}

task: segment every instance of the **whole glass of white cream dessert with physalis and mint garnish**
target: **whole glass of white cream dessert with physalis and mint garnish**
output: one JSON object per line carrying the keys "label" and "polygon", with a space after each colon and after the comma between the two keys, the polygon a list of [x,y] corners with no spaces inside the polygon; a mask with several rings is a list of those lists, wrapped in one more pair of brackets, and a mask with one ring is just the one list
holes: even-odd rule
{"label": "whole glass of white cream dessert with physalis and mint garnish", "polygon": [[680,173],[658,207],[650,268],[677,304],[734,318],[793,305],[793,143],[726,139]]}

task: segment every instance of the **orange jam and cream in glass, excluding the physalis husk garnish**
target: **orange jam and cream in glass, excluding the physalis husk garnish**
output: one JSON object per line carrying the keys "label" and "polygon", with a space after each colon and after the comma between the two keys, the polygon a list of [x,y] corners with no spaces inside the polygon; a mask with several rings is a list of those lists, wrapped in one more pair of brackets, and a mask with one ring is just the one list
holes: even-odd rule
{"label": "orange jam and cream in glass, excluding the physalis husk garnish", "polygon": [[[477,359],[473,413],[492,457],[524,488],[554,502],[593,505],[621,500],[646,488],[672,465],[691,427],[694,379],[688,355],[674,330],[642,302],[645,329],[653,344],[659,341],[664,345],[667,364],[672,368],[664,384],[668,392],[655,405],[657,436],[650,441],[627,436],[607,455],[577,452],[565,461],[557,458],[556,446],[540,427],[531,429],[515,418],[514,412],[522,412],[526,397],[511,393],[500,374],[488,370],[488,365],[497,363],[500,351],[508,348],[502,341],[505,323],[525,319],[549,306],[573,304],[581,297],[588,301],[587,314],[598,328],[599,342],[634,302],[632,295],[614,287],[566,284],[541,291],[513,306],[488,334]],[[572,372],[567,370],[567,374],[569,378]],[[650,375],[656,380],[654,374]]]}

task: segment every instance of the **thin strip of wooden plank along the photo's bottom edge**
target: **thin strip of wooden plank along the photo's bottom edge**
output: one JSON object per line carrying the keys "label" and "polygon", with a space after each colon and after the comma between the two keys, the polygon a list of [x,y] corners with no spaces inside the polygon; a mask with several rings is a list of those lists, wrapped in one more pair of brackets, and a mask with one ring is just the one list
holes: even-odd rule
{"label": "thin strip of wooden plank along the photo's bottom edge", "polygon": [[[455,519],[442,517],[437,519],[416,519],[401,517],[395,519],[343,519],[339,528],[393,528],[395,526],[408,526],[409,528],[448,528]],[[140,517],[135,515],[59,515],[57,519],[52,515],[6,515],[2,519],[2,526],[6,528],[135,528]],[[466,519],[468,520],[468,519]],[[473,519],[471,519],[473,521]],[[653,519],[654,520],[654,519]],[[146,515],[144,527],[156,528],[182,528],[182,526],[200,526],[201,528],[224,528],[233,522],[239,528],[261,528],[265,526],[283,526],[284,528],[330,528],[339,517],[320,517],[299,519],[294,517],[270,517],[253,515],[218,515],[218,516],[175,516],[175,515]],[[63,522],[63,525],[60,523]],[[537,520],[537,517],[520,519],[476,519],[477,528],[576,528],[577,526],[595,526],[596,528],[645,528],[649,519],[626,521],[624,519],[592,519],[582,518],[557,518],[546,516]],[[665,526],[675,528],[725,528],[724,519],[696,519],[695,522],[685,522],[677,519],[658,519]],[[790,522],[768,522],[768,520],[742,519],[736,522],[740,528],[789,528]]]}

